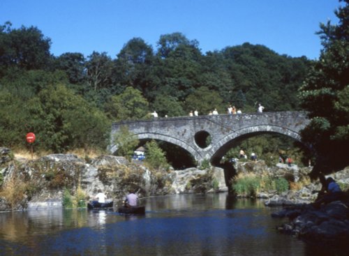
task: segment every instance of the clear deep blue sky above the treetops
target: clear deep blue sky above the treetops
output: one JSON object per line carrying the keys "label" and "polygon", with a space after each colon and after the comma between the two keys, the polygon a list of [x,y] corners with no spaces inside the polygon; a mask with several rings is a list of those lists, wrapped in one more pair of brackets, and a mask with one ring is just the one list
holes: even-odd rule
{"label": "clear deep blue sky above the treetops", "polygon": [[[343,3],[342,3],[343,4]],[[183,33],[202,54],[251,43],[318,59],[320,22],[337,24],[338,0],[0,0],[0,25],[37,27],[59,56],[106,52],[115,59],[132,38],[156,50],[161,35]]]}

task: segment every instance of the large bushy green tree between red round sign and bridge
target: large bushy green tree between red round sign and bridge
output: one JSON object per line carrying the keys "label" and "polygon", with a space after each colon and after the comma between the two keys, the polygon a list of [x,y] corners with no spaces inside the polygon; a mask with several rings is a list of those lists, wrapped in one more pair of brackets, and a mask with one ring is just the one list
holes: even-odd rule
{"label": "large bushy green tree between red round sign and bridge", "polygon": [[107,145],[110,123],[105,115],[63,84],[47,86],[27,108],[31,116],[27,126],[36,133],[42,150],[61,153]]}

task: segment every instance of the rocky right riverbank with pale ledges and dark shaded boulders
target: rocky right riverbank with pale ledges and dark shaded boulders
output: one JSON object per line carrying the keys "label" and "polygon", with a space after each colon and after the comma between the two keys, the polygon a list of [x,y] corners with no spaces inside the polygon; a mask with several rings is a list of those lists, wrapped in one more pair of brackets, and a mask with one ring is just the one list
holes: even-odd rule
{"label": "rocky right riverbank with pale ledges and dark shaded boulders", "polygon": [[[245,163],[237,165],[237,173],[265,172],[262,163]],[[290,183],[294,181],[303,183],[299,189],[292,189],[284,193],[276,191],[259,191],[256,197],[262,199],[267,206],[283,206],[282,211],[272,213],[273,218],[283,218],[285,223],[277,229],[283,234],[297,236],[309,243],[321,246],[340,246],[349,249],[349,167],[331,174],[338,183],[347,190],[341,201],[331,202],[320,207],[314,207],[312,202],[321,189],[320,181],[310,181],[308,174],[311,168],[299,169],[293,165],[277,165],[267,168],[274,178],[284,177]],[[308,181],[307,181],[308,179]],[[239,195],[237,195],[239,196]],[[240,195],[241,196],[241,195]],[[279,209],[279,208],[278,208]]]}

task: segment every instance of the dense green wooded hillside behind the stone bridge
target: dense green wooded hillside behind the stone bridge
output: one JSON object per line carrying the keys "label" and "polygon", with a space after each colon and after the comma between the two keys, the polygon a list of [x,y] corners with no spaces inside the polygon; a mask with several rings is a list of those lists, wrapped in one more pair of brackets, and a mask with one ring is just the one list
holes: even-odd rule
{"label": "dense green wooded hillside behind the stone bridge", "polygon": [[[36,27],[0,26],[1,146],[25,148],[25,134],[34,132],[37,150],[106,149],[112,121],[149,119],[154,110],[161,117],[225,114],[228,105],[255,112],[257,103],[300,110],[297,90],[312,63],[250,43],[203,54],[178,32],[161,35],[156,47],[131,38],[115,58],[54,57],[50,43]],[[248,144],[265,154],[268,143]]]}

